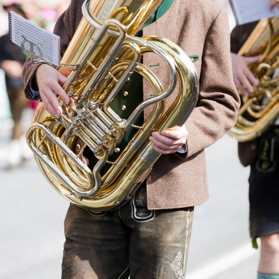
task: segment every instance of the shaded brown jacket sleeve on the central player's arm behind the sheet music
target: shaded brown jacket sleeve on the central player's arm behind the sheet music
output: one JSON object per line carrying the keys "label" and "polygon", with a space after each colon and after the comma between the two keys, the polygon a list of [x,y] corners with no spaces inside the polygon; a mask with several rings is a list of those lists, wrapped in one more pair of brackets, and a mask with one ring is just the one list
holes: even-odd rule
{"label": "shaded brown jacket sleeve on the central player's arm behind the sheet music", "polygon": [[[76,20],[76,14],[80,11],[78,9],[81,9],[81,2],[80,0],[72,0],[70,3],[69,8],[59,17],[58,21],[55,24],[54,27],[54,34],[60,36],[60,51],[61,56],[64,54],[67,46],[70,43],[70,40],[74,34],[75,28],[78,25],[79,21]],[[38,60],[34,60],[38,61]],[[34,65],[31,63],[30,58],[26,60],[24,66],[23,66],[23,73],[22,73],[22,79],[24,82],[24,93],[27,99],[35,101],[40,99],[40,96],[36,98],[32,98],[31,90],[30,90],[30,81],[32,81],[34,75],[36,74],[36,71],[39,65]],[[53,67],[55,67],[53,65]]]}

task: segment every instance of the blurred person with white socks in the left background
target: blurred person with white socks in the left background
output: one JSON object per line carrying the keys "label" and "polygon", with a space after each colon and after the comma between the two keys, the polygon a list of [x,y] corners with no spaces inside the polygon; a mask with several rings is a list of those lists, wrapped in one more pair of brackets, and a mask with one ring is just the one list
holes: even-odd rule
{"label": "blurred person with white socks in the left background", "polygon": [[[26,15],[21,5],[11,3],[3,6],[8,12],[14,11],[23,18]],[[21,118],[23,109],[27,105],[23,93],[22,69],[27,55],[20,46],[16,46],[9,40],[9,34],[0,37],[0,68],[5,72],[6,89],[10,101],[10,109],[14,120],[12,140],[8,152],[8,168],[18,166],[20,163],[30,159],[32,153],[28,150],[23,135]]]}

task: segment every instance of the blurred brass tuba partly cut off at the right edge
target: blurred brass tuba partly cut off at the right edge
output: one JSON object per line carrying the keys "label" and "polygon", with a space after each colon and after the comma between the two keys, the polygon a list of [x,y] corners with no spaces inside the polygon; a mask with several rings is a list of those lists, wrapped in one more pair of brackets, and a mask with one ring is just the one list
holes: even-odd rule
{"label": "blurred brass tuba partly cut off at the right edge", "polygon": [[260,61],[250,70],[258,80],[249,96],[239,92],[242,106],[235,126],[228,132],[239,142],[254,140],[279,116],[279,17],[259,21],[238,55],[256,56]]}

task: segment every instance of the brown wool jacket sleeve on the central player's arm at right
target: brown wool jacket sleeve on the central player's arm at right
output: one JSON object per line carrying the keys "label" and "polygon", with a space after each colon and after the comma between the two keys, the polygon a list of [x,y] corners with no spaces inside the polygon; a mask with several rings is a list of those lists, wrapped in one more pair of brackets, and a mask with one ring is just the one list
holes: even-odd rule
{"label": "brown wool jacket sleeve on the central player's arm at right", "polygon": [[197,106],[187,119],[187,153],[189,158],[222,138],[236,122],[239,95],[232,78],[228,16],[221,9],[211,24],[205,41]]}

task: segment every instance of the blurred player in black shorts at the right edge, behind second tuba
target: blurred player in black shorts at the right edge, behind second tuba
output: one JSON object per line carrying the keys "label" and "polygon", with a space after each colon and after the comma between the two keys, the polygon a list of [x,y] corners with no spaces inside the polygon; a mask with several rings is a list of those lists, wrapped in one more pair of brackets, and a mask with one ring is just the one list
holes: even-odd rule
{"label": "blurred player in black shorts at the right edge, behind second tuba", "polygon": [[[270,9],[273,9],[275,5],[279,6],[279,0],[271,0]],[[257,23],[238,25],[231,33],[233,79],[238,90],[244,95],[253,93],[253,86],[258,85],[258,81],[248,66],[258,62],[261,55],[243,57],[236,53]],[[264,102],[263,98],[262,103]],[[274,140],[274,148],[272,148],[272,140]],[[251,165],[250,236],[255,248],[257,248],[256,238],[260,237],[261,241],[257,278],[279,279],[279,118],[274,126],[259,139],[239,143],[238,154],[244,166]],[[264,154],[266,158],[263,160]],[[274,165],[274,162],[277,162],[276,166],[267,171],[267,166]]]}

